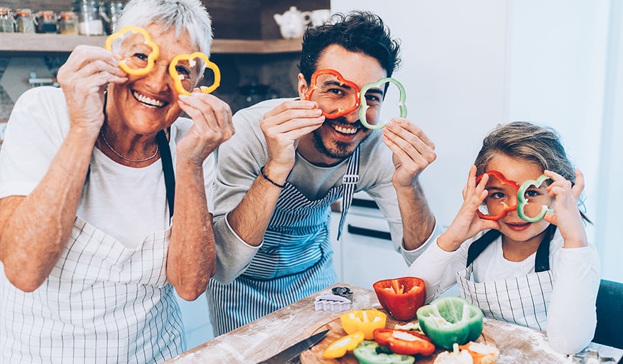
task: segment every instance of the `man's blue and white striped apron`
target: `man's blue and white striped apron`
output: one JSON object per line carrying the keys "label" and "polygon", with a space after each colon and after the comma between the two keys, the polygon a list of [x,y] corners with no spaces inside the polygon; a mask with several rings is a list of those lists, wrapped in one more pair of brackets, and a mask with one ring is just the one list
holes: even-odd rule
{"label": "man's blue and white striped apron", "polygon": [[[340,230],[359,181],[359,147],[342,184],[311,201],[286,183],[249,268],[231,284],[210,280],[208,306],[215,335],[225,334],[337,281],[329,239],[331,203],[342,197]],[[339,232],[338,232],[339,236]]]}

